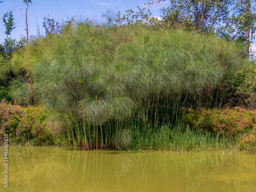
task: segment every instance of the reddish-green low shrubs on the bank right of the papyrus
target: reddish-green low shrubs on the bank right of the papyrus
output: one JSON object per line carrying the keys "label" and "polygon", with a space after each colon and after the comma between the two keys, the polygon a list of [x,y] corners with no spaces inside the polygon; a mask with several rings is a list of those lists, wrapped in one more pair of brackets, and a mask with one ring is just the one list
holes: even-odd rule
{"label": "reddish-green low shrubs on the bank right of the papyrus", "polygon": [[239,138],[256,125],[256,112],[243,108],[188,110],[183,120],[192,129],[210,131],[226,138]]}

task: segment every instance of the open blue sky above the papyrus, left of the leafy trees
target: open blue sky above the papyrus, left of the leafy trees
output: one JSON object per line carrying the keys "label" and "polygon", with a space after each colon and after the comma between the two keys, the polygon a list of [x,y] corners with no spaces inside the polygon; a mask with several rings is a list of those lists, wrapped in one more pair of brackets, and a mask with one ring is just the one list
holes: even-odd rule
{"label": "open blue sky above the papyrus, left of the leafy trees", "polygon": [[[160,16],[160,8],[163,6],[168,7],[168,1],[153,6],[144,6],[147,0],[32,0],[28,8],[28,28],[29,35],[36,35],[37,23],[42,29],[43,17],[50,15],[51,18],[61,19],[70,18],[75,15],[82,15],[86,17],[97,16],[100,19],[101,14],[106,10],[115,10],[125,13],[125,10],[133,9],[137,10],[137,6],[149,8],[152,12],[152,16]],[[4,0],[0,4],[0,16],[7,11],[13,11],[14,22],[16,28],[12,31],[11,37],[19,39],[20,35],[26,36],[26,24],[25,24],[25,13],[26,5],[23,0]],[[36,22],[37,20],[37,22]],[[0,43],[6,38],[5,26],[0,19]]]}

